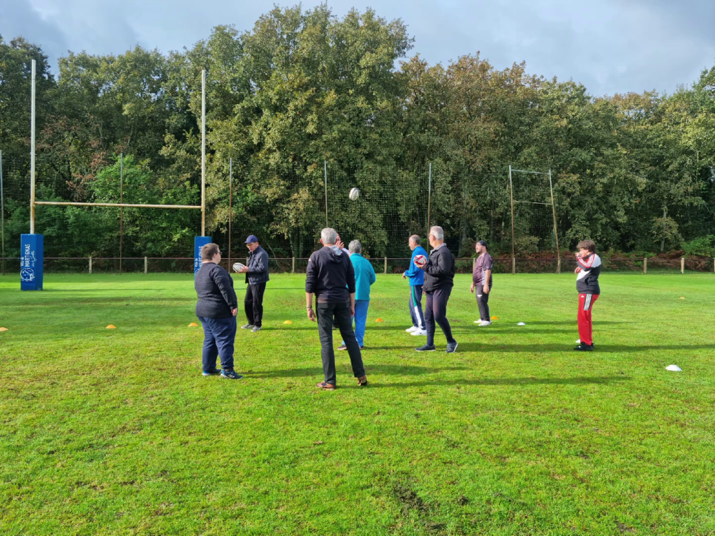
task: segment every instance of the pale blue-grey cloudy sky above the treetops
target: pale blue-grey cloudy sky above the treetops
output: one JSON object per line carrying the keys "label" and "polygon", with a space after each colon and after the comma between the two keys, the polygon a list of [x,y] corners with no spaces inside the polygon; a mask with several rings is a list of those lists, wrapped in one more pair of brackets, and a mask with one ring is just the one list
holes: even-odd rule
{"label": "pale blue-grey cloudy sky above the treetops", "polygon": [[[291,6],[294,2],[280,4]],[[304,1],[304,9],[319,4]],[[715,0],[334,0],[338,16],[373,6],[401,18],[411,54],[448,64],[481,51],[499,69],[573,79],[594,96],[655,89],[671,93],[715,64]],[[180,50],[217,24],[252,29],[272,2],[246,0],[0,0],[0,35],[22,35],[49,55],[122,54],[140,44]]]}

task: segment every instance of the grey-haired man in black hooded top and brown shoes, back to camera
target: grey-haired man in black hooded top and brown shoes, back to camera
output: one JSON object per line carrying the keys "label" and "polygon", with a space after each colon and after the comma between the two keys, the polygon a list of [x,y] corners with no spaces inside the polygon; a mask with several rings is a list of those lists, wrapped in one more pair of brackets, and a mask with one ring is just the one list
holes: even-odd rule
{"label": "grey-haired man in black hooded top and brown shoes, back to camera", "polygon": [[[335,389],[335,351],[332,347],[332,319],[337,319],[342,340],[345,341],[347,354],[352,364],[352,374],[358,378],[359,385],[367,385],[363,356],[360,346],[352,331],[352,317],[355,316],[355,269],[350,257],[335,245],[335,229],[322,229],[320,233],[321,249],[314,252],[308,260],[305,274],[305,307],[308,319],[315,322],[320,334],[322,372],[325,381],[317,384],[321,389]],[[315,294],[315,312],[313,311]]]}

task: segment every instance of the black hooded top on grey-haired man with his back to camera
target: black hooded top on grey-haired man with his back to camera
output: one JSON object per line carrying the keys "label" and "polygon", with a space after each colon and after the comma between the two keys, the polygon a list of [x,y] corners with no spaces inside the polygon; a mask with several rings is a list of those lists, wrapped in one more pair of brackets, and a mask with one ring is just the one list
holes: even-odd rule
{"label": "black hooded top on grey-haired man with his back to camera", "polygon": [[350,258],[337,246],[323,247],[308,259],[305,292],[320,302],[345,303],[355,293],[355,269]]}

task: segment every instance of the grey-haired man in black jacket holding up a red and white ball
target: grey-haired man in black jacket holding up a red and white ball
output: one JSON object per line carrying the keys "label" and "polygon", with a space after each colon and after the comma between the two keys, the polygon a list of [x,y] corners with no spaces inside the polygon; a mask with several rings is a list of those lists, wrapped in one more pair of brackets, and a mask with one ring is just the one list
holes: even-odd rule
{"label": "grey-haired man in black jacket holding up a red and white ball", "polygon": [[[447,353],[457,349],[457,341],[452,337],[452,328],[447,319],[447,302],[454,285],[455,262],[454,255],[447,249],[444,242],[442,227],[430,229],[430,246],[433,247],[430,258],[418,268],[425,271],[424,291],[427,295],[425,303],[425,328],[427,329],[427,344],[417,348],[418,352],[433,352],[435,349],[435,322],[440,324],[442,332],[447,337]],[[416,261],[415,261],[416,263]]]}

